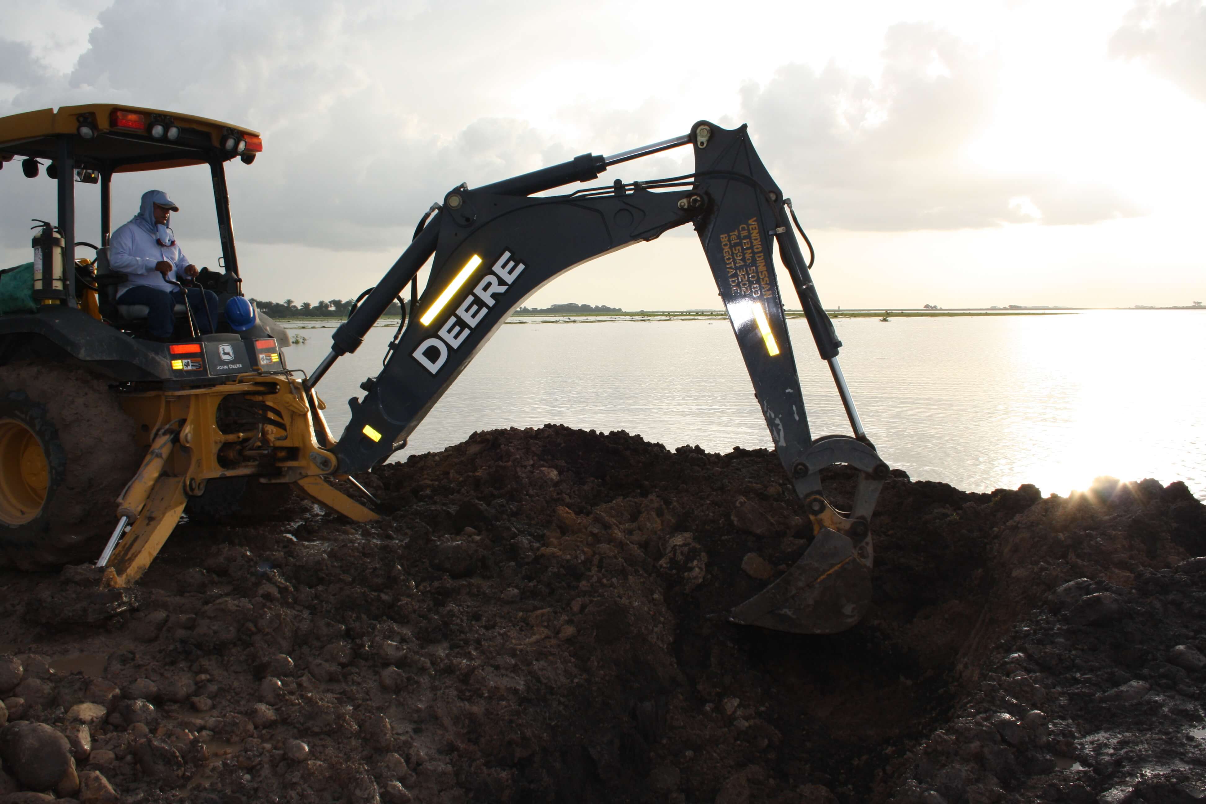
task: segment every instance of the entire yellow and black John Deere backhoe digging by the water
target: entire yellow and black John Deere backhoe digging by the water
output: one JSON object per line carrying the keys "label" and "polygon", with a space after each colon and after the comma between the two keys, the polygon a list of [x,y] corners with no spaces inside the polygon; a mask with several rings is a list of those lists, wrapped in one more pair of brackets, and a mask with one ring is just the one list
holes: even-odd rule
{"label": "entire yellow and black John Deere backhoe digging by the water", "polygon": [[[535,195],[678,147],[692,149],[692,174]],[[335,330],[330,353],[302,378],[286,368],[285,331],[263,313],[246,333],[223,333],[229,328],[219,321],[217,334],[197,336],[181,307],[176,342],[142,338],[146,311],[121,304],[113,288],[122,277],[107,265],[113,174],[206,164],[224,270],[198,278],[222,301],[241,294],[223,170],[236,157],[250,164],[260,149],[248,129],[147,108],[94,105],[0,118],[0,165],[22,158],[29,176],[45,163],[58,182],[58,224],[41,225],[34,241],[31,301],[0,315],[0,547],[11,562],[36,569],[86,557],[105,567],[103,585],[124,586],[186,512],[204,516],[286,483],[353,520],[375,518],[324,477],[353,479],[400,450],[510,311],[552,277],[692,223],[775,451],[813,526],[798,562],[730,616],[798,633],[859,622],[871,600],[870,521],[888,466],[842,376],[842,344],[792,231],[791,203],[745,127],[698,122],[681,136],[610,157],[587,153],[453,188]],[[96,246],[75,241],[76,181],[100,183]],[[76,259],[77,246],[93,248],[94,259]],[[853,436],[813,439],[809,432],[775,246]],[[428,260],[420,294],[417,275]],[[2,278],[11,283],[16,275]],[[336,440],[315,387],[408,284],[410,319],[380,375],[362,385],[364,397],[350,400],[351,421]],[[836,464],[859,471],[848,512],[821,489],[821,470]]]}

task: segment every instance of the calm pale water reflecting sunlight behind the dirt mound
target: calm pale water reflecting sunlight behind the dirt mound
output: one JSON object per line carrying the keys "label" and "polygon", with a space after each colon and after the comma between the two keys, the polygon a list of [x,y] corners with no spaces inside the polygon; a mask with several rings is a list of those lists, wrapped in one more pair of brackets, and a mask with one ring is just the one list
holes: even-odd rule
{"label": "calm pale water reflecting sunlight behind the dirt mound", "polygon": [[[867,434],[914,479],[1066,494],[1097,475],[1155,477],[1206,498],[1206,312],[835,323]],[[312,369],[332,330],[295,331],[309,340],[289,365]],[[813,434],[849,433],[807,323],[790,331]],[[320,385],[336,434],[391,334],[375,329]],[[772,446],[726,321],[603,321],[504,325],[397,457],[546,422],[672,448]]]}

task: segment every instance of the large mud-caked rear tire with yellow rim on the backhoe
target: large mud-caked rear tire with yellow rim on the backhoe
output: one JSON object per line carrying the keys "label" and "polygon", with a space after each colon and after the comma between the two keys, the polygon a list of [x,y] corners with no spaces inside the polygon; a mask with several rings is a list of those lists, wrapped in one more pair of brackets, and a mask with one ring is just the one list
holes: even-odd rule
{"label": "large mud-caked rear tire with yellow rim on the backhoe", "polygon": [[94,559],[117,495],[146,450],[105,380],[17,363],[0,378],[0,563],[25,570]]}

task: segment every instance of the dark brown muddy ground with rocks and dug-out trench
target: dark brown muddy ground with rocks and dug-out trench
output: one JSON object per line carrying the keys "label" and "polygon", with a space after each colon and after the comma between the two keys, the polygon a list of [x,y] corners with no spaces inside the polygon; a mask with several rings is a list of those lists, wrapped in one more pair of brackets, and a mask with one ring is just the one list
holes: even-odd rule
{"label": "dark brown muddy ground with rocks and dug-out trench", "polygon": [[[1206,800],[1182,483],[894,473],[874,608],[801,636],[725,620],[807,544],[785,480],[766,451],[496,430],[374,471],[369,526],[186,523],[124,597],[0,573],[0,793],[62,770],[84,802]],[[23,765],[59,745],[37,722],[75,773]]]}

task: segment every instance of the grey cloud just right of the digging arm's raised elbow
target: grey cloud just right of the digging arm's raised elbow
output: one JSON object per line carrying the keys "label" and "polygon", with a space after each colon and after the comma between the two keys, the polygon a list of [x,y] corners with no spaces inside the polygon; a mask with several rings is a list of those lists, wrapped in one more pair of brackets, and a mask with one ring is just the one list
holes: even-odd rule
{"label": "grey cloud just right of the digging arm's raised elbow", "polygon": [[[878,80],[830,63],[742,90],[742,116],[810,225],[861,230],[1085,224],[1141,213],[1105,186],[994,171],[968,155],[993,124],[997,60],[929,24],[888,30]],[[1025,199],[1025,204],[1019,204]]]}

